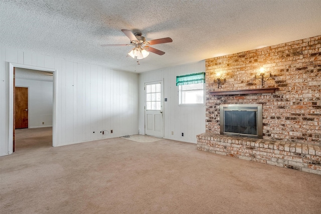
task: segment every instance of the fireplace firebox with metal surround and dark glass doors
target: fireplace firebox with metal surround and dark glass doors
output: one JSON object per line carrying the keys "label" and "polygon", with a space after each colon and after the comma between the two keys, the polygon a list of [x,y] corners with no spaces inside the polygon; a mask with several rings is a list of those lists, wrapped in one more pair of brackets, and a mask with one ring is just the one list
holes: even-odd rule
{"label": "fireplace firebox with metal surround and dark glass doors", "polygon": [[262,104],[221,104],[220,133],[263,138]]}

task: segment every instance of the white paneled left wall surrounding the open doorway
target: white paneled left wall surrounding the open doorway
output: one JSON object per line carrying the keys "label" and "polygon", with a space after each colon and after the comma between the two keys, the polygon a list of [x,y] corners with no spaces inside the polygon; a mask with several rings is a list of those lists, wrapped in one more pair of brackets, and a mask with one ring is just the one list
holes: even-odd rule
{"label": "white paneled left wall surrounding the open doorway", "polygon": [[[0,156],[9,142],[9,63],[55,69],[55,145],[138,133],[138,75],[41,54],[0,48]],[[105,131],[105,135],[100,133]]]}

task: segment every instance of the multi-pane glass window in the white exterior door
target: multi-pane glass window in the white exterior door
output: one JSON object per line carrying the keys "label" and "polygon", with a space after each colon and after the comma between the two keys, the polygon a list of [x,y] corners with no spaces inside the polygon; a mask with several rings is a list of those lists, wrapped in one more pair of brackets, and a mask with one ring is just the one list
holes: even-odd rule
{"label": "multi-pane glass window in the white exterior door", "polygon": [[146,85],[146,110],[161,110],[161,83]]}

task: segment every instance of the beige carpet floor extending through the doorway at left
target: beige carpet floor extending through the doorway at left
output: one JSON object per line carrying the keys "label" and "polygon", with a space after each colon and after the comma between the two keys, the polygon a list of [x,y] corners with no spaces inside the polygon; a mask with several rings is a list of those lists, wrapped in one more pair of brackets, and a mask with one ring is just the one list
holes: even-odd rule
{"label": "beige carpet floor extending through the doorway at left", "polygon": [[54,148],[43,130],[0,157],[0,213],[321,213],[320,175],[165,139]]}

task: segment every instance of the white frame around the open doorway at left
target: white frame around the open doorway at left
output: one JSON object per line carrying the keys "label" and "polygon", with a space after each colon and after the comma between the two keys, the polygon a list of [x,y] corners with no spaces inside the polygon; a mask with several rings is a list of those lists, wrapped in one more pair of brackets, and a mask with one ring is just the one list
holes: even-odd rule
{"label": "white frame around the open doorway at left", "polygon": [[[53,124],[52,124],[52,145],[56,146],[57,139],[57,70],[52,68],[44,68],[38,66],[24,65],[19,63],[9,63],[9,154],[13,153],[14,136],[15,136],[15,123],[14,123],[14,92],[15,92],[15,76],[14,68],[25,68],[32,70],[39,70],[51,72],[53,74]],[[29,124],[28,124],[29,125]]]}

